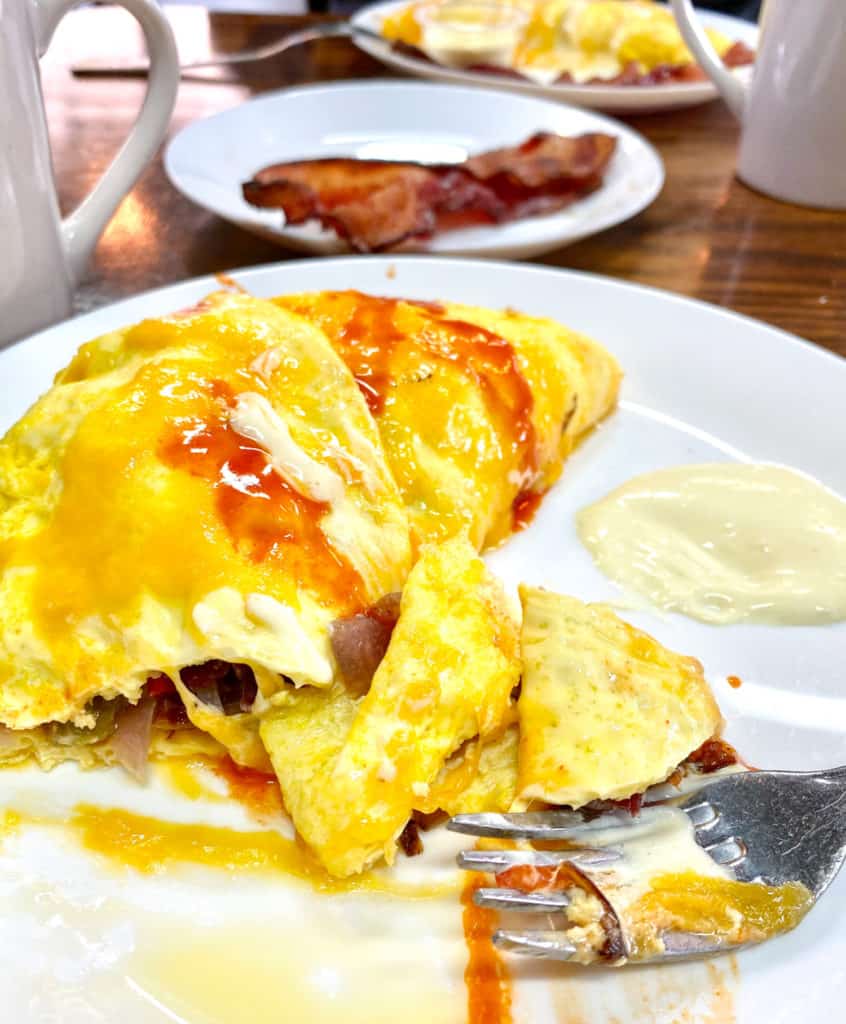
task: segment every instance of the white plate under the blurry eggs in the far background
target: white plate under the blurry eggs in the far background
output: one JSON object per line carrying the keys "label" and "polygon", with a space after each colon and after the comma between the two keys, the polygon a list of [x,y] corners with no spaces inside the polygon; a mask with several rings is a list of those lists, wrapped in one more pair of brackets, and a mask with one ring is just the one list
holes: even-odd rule
{"label": "white plate under the blurry eggs in the far background", "polygon": [[[393,10],[407,6],[409,0],[387,0],[359,10],[353,23],[379,32],[382,18]],[[732,41],[746,43],[753,49],[758,46],[758,27],[728,14],[713,11],[696,12],[706,27],[719,29]],[[646,114],[652,111],[671,111],[682,106],[695,106],[717,96],[717,89],[710,81],[669,82],[664,85],[538,85],[520,82],[505,76],[445,68],[420,57],[398,53],[389,43],[358,37],[355,44],[382,63],[407,75],[430,78],[441,82],[465,82],[494,89],[508,89],[523,95],[544,96],[578,106],[591,106],[615,114]],[[749,69],[738,69],[737,75],[748,76]]]}

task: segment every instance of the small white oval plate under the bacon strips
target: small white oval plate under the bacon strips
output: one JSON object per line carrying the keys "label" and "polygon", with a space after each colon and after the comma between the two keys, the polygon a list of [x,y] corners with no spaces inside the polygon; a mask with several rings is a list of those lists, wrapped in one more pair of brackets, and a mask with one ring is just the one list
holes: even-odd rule
{"label": "small white oval plate under the bacon strips", "polygon": [[419,82],[341,82],[251,99],[189,124],[168,146],[165,167],[200,206],[289,249],[326,255],[346,249],[334,231],[287,227],[282,211],[246,203],[242,182],[268,164],[308,158],[459,162],[542,130],[616,135],[618,151],[602,187],[549,216],[438,234],[430,252],[537,256],[627,220],[661,191],[661,158],[625,125],[534,96]]}

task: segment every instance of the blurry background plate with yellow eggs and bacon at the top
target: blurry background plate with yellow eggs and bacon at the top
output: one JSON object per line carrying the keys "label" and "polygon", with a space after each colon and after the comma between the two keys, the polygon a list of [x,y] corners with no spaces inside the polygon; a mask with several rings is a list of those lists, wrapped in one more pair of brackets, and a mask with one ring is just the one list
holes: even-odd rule
{"label": "blurry background plate with yellow eggs and bacon at the top", "polygon": [[[645,13],[632,17],[638,9]],[[620,11],[632,19],[625,33],[618,25]],[[748,74],[757,27],[710,11],[702,11],[701,20],[726,62],[736,67],[736,74]],[[478,22],[488,25],[484,34],[476,28]],[[386,37],[384,43],[356,37],[363,50],[390,68],[423,78],[618,113],[693,106],[717,96],[662,4],[388,0],[358,11],[356,23]]]}

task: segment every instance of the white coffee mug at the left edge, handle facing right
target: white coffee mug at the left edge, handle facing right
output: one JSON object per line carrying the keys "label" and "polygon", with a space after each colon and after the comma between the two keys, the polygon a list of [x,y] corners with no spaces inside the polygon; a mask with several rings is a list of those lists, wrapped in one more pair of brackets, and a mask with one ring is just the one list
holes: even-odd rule
{"label": "white coffee mug at the left edge, handle facing right", "polygon": [[165,135],[179,81],[154,0],[118,0],[140,24],[152,70],[129,137],[94,189],[59,217],[38,58],[78,0],[0,0],[0,345],[61,319],[116,207]]}

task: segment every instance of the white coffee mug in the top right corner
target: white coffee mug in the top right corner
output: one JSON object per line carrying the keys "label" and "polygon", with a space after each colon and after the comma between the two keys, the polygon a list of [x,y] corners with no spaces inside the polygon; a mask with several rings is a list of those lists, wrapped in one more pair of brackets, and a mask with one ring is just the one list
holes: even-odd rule
{"label": "white coffee mug in the top right corner", "polygon": [[846,209],[846,0],[766,0],[751,85],[720,60],[690,0],[672,4],[743,124],[738,177],[790,203]]}

